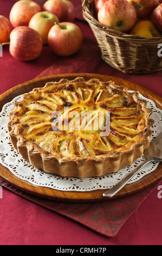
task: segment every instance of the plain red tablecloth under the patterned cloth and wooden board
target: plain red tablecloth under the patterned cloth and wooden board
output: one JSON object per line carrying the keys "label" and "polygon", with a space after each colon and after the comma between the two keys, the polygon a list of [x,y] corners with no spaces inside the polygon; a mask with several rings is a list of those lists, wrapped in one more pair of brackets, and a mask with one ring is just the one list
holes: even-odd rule
{"label": "plain red tablecloth under the patterned cloth and wooden board", "polygon": [[[0,0],[0,15],[9,17],[9,11],[15,2],[13,0]],[[37,2],[43,3],[45,1]],[[92,42],[91,50],[89,47],[91,52],[89,56],[87,54],[87,57],[85,54],[85,61],[83,61],[83,58],[77,58],[75,67],[70,66],[74,58],[76,60],[76,56],[60,58],[51,54],[48,46],[44,46],[43,52],[38,59],[28,63],[19,62],[10,56],[9,47],[5,46],[3,48],[3,57],[0,58],[0,93],[4,93],[5,90],[17,84],[40,76],[40,74],[43,76],[67,71],[91,72],[121,77],[125,80],[141,84],[162,96],[162,72],[144,76],[126,75],[103,62],[100,51],[95,46],[95,38],[92,31],[85,21],[80,20],[81,8],[78,8],[81,5],[80,1],[73,0],[73,3],[77,9],[75,23],[80,26],[85,36],[82,50],[85,45]],[[79,56],[78,53],[77,57]],[[66,217],[68,216],[67,214],[66,216],[60,215],[52,209],[50,210],[50,208],[47,209],[45,205],[43,207],[41,204],[34,203],[34,200],[28,200],[27,197],[25,199],[25,196],[21,193],[21,196],[18,196],[19,192],[14,193],[12,188],[4,185],[3,198],[0,199],[0,245],[161,245],[162,199],[158,198],[158,185],[160,184],[150,188],[151,194],[148,193],[149,190],[147,191],[149,196],[145,195],[145,200],[141,199],[141,202],[138,201],[137,207],[134,205],[134,209],[137,210],[133,215],[130,215],[131,217],[128,218],[113,237],[96,233],[79,222],[70,220]],[[142,194],[139,194],[139,199],[141,196]],[[133,201],[131,198],[127,198],[127,205],[128,202],[131,202],[130,205],[132,207],[132,202],[135,204],[137,200]],[[61,209],[60,205],[57,204],[59,210]],[[140,207],[138,208],[139,205]],[[65,205],[63,206],[65,207]],[[73,207],[74,209],[76,208],[75,206]],[[87,207],[90,206],[87,205]],[[63,211],[61,213],[63,214]],[[122,214],[124,215],[124,211]],[[125,215],[127,214],[128,212],[125,213]],[[99,220],[96,219],[96,221]]]}

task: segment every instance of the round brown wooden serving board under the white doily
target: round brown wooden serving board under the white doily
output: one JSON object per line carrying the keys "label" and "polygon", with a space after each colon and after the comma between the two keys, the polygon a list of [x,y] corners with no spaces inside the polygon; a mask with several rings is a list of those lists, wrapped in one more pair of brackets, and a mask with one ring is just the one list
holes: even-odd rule
{"label": "round brown wooden serving board under the white doily", "polygon": [[[28,93],[32,89],[36,87],[43,87],[46,82],[49,81],[59,81],[61,78],[67,78],[68,80],[73,80],[77,76],[84,77],[85,80],[89,80],[91,78],[98,78],[100,81],[109,81],[112,80],[115,84],[120,86],[126,86],[129,90],[138,90],[142,95],[147,98],[153,100],[158,108],[162,109],[162,99],[158,95],[152,93],[150,90],[139,86],[138,84],[134,84],[120,78],[115,78],[111,76],[105,75],[97,75],[97,74],[64,74],[64,75],[55,75],[48,77],[41,77],[35,80],[31,80],[25,83],[22,83],[14,88],[11,88],[7,92],[3,93],[0,96],[0,111],[5,103],[10,102],[14,97]],[[43,197],[47,199],[60,200],[63,202],[98,202],[109,200],[108,198],[103,198],[102,194],[105,190],[94,190],[89,192],[68,192],[68,191],[59,191],[52,188],[40,187],[30,184],[27,181],[21,180],[17,178],[14,174],[10,172],[10,170],[0,164],[0,176],[3,180],[7,181],[12,186],[33,194],[38,197]],[[162,178],[162,163],[160,163],[157,169],[154,172],[144,176],[139,181],[134,182],[133,184],[126,185],[114,198],[120,198],[124,196],[128,196],[129,194],[138,192],[143,190],[144,188],[150,186],[155,181],[158,181]],[[114,199],[113,198],[113,199]],[[111,199],[112,200],[112,199]]]}

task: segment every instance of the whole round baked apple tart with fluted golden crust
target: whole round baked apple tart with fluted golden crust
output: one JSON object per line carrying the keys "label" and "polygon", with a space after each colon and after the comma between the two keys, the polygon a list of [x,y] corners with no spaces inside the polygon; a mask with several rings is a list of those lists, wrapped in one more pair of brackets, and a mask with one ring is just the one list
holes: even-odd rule
{"label": "whole round baked apple tart with fluted golden crust", "polygon": [[138,94],[112,81],[48,82],[14,103],[11,143],[47,173],[83,178],[116,172],[150,144],[152,110]]}

